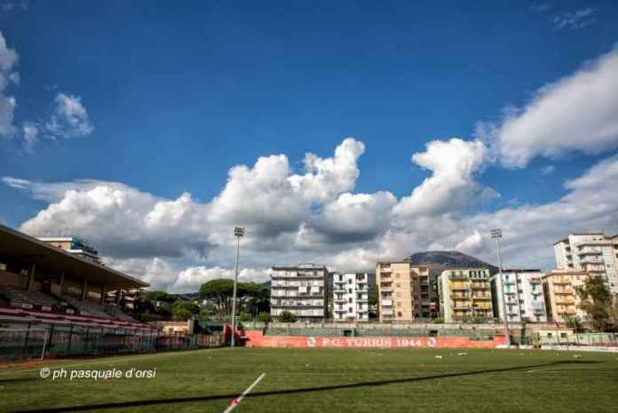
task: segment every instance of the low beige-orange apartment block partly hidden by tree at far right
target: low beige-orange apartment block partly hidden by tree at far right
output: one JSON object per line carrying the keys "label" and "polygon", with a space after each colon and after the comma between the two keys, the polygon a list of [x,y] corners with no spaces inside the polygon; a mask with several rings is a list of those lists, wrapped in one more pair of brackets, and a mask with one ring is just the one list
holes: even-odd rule
{"label": "low beige-orange apartment block partly hidden by tree at far right", "polygon": [[567,322],[569,318],[585,320],[588,315],[580,308],[579,294],[575,290],[586,278],[595,275],[584,271],[554,270],[543,275],[543,293],[548,317],[554,322]]}

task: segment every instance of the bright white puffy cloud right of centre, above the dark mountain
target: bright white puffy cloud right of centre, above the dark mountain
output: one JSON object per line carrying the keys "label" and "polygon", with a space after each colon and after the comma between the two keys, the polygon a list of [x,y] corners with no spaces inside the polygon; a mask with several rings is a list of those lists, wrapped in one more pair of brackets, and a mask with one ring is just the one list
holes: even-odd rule
{"label": "bright white puffy cloud right of centre, above the dark mountain", "polygon": [[[395,213],[402,216],[441,214],[456,210],[478,199],[483,188],[474,180],[487,159],[487,147],[480,140],[433,140],[425,152],[412,156],[412,162],[432,171],[432,175],[401,199]],[[491,192],[485,192],[491,195]]]}

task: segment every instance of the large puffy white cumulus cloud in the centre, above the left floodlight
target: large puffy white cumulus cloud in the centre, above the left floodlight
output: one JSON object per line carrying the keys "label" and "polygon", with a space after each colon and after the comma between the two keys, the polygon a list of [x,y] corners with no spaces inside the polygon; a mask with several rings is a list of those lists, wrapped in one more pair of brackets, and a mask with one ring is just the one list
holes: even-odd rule
{"label": "large puffy white cumulus cloud in the centre, above the left floodlight", "polygon": [[305,174],[292,173],[285,155],[264,156],[252,168],[229,171],[226,187],[210,205],[209,221],[217,226],[248,226],[262,237],[295,232],[311,215],[314,203],[326,203],[353,189],[360,172],[362,142],[348,138],[333,157],[305,155]]}

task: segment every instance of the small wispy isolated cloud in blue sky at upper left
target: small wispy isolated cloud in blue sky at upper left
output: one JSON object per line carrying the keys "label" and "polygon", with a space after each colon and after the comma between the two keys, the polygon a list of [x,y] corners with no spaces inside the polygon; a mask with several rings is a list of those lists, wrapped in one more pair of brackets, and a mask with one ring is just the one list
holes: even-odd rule
{"label": "small wispy isolated cloud in blue sky at upper left", "polygon": [[86,108],[79,96],[58,93],[54,100],[56,107],[48,123],[46,131],[54,137],[75,138],[87,136],[94,131]]}

